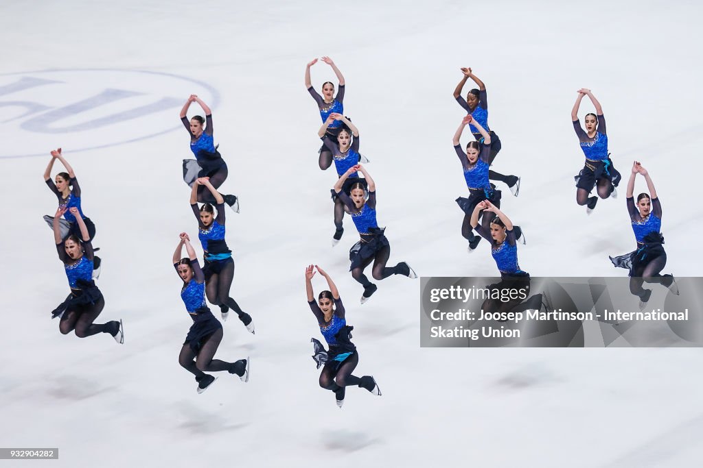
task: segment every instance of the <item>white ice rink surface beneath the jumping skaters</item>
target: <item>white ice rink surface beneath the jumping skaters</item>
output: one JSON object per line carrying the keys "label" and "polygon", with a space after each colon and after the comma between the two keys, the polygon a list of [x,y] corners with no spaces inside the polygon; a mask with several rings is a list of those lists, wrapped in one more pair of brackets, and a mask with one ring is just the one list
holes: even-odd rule
{"label": "white ice rink surface beneath the jumping skaters", "polygon": [[[303,78],[322,55],[344,73],[344,113],[371,160],[390,265],[496,274],[485,241],[466,253],[454,202],[466,189],[452,91],[470,66],[503,143],[494,169],[522,176],[517,198],[502,187],[503,210],[528,239],[522,269],[626,274],[607,255],[633,248],[625,181],[637,159],[662,201],[665,272],[696,276],[700,4],[66,0],[0,11],[0,446],[60,450],[58,461],[22,466],[699,466],[700,349],[420,349],[418,280],[389,278],[359,305],[347,255],[355,229],[346,217],[330,246],[335,174],[317,166],[321,122]],[[335,81],[321,62],[311,74],[316,88]],[[602,103],[624,176],[619,199],[590,217],[574,200],[583,154],[569,112],[581,87]],[[223,192],[240,196],[241,213],[228,214],[232,295],[257,326],[250,335],[230,319],[217,355],[251,356],[250,382],[220,375],[202,395],[177,361],[191,320],[171,265],[178,233],[197,232],[178,116],[191,93],[212,105]],[[584,100],[581,121],[591,110]],[[60,335],[49,319],[67,293],[41,220],[56,210],[42,178],[55,147],[97,227],[98,322],[122,318],[123,346]],[[636,193],[645,189],[638,180]],[[318,387],[309,263],[337,282],[355,374],[375,375],[382,397],[349,388],[339,410]]]}

